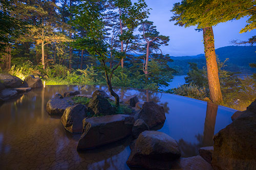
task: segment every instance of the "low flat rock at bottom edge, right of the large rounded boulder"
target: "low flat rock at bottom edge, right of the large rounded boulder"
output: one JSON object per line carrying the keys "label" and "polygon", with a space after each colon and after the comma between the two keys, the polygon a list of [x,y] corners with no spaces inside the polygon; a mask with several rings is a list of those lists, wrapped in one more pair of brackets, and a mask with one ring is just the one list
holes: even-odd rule
{"label": "low flat rock at bottom edge, right of the large rounded boulder", "polygon": [[211,170],[211,165],[205,161],[201,156],[193,156],[188,158],[181,158],[179,161],[174,163],[172,169],[202,169]]}

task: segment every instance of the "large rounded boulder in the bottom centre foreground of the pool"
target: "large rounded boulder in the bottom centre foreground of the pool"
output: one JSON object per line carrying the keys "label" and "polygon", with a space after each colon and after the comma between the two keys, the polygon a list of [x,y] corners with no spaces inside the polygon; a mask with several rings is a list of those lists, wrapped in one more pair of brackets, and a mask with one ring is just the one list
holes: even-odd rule
{"label": "large rounded boulder in the bottom centre foreground of the pool", "polygon": [[144,131],[136,139],[126,163],[146,169],[169,169],[180,156],[179,145],[172,137],[158,131]]}

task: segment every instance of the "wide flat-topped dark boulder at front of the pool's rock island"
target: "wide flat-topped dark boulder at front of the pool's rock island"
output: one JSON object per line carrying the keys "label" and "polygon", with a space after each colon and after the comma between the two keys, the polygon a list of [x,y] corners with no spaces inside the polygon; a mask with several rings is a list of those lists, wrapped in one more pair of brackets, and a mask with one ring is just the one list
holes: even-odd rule
{"label": "wide flat-topped dark boulder at front of the pool's rock island", "polygon": [[133,124],[133,116],[125,114],[85,118],[77,150],[99,147],[131,135]]}

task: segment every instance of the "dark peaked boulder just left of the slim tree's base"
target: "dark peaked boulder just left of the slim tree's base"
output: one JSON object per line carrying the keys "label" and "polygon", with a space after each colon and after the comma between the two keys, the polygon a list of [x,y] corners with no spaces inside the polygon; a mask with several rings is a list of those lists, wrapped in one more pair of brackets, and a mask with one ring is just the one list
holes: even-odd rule
{"label": "dark peaked boulder just left of the slim tree's base", "polygon": [[88,111],[94,115],[110,115],[115,113],[115,108],[111,106],[108,99],[95,95],[88,104]]}

